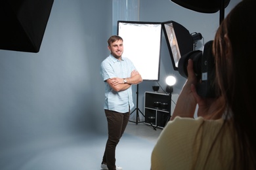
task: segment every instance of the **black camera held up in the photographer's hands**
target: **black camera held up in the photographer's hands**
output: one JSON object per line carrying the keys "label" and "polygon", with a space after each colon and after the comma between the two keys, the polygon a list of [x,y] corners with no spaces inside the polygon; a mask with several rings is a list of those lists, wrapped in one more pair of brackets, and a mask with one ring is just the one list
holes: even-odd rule
{"label": "black camera held up in the photographer's hands", "polygon": [[201,97],[216,97],[215,59],[212,52],[213,41],[208,41],[201,50],[194,50],[184,54],[179,59],[178,71],[181,76],[188,78],[188,59],[192,59],[194,73],[198,78],[196,91]]}

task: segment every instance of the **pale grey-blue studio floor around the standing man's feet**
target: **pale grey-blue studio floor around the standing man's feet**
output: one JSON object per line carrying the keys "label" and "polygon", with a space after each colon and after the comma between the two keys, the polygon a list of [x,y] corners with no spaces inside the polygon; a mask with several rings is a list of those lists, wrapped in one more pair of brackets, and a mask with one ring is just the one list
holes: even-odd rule
{"label": "pale grey-blue studio floor around the standing man's feet", "polygon": [[[116,165],[124,170],[149,170],[151,152],[161,130],[129,122],[116,148]],[[0,155],[0,169],[100,170],[106,140],[106,135],[91,133],[50,148],[32,149],[36,147],[30,146],[4,151]]]}

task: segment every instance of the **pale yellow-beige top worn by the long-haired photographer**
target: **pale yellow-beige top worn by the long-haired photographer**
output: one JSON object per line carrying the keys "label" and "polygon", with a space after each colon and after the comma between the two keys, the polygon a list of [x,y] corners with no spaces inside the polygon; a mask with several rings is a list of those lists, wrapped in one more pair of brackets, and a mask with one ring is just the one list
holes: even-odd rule
{"label": "pale yellow-beige top worn by the long-haired photographer", "polygon": [[[229,124],[223,126],[223,122],[223,119],[204,120],[202,117],[176,117],[169,121],[154,146],[152,170],[232,169],[232,128]],[[216,138],[221,126],[223,139],[221,136]],[[216,143],[212,145],[215,139]]]}

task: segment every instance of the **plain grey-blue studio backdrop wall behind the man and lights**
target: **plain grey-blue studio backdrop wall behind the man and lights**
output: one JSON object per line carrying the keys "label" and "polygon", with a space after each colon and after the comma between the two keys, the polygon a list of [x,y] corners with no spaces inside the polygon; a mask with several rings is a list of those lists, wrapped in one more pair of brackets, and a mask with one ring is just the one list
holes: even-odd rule
{"label": "plain grey-blue studio backdrop wall behind the man and lights", "polygon": [[[238,2],[232,0],[225,14]],[[202,14],[169,0],[140,0],[140,21],[167,20],[179,22],[190,33],[202,33],[207,42],[219,26],[219,12]],[[106,41],[110,35],[112,1],[55,0],[39,53],[0,50],[1,151],[106,133],[99,65],[109,54]],[[159,83],[165,88],[165,77],[175,75],[175,93],[179,93],[185,78],[173,71],[164,39],[161,44]],[[142,111],[144,92],[152,91],[152,85],[157,83],[145,81],[139,85]],[[136,86],[133,90],[135,98]]]}

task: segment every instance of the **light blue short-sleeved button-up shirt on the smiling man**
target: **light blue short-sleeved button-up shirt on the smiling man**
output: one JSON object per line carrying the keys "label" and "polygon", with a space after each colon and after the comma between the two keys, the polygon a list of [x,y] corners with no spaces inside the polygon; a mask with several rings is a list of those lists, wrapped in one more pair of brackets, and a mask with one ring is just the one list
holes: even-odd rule
{"label": "light blue short-sleeved button-up shirt on the smiling man", "polygon": [[108,78],[128,78],[131,77],[131,72],[135,66],[128,58],[121,58],[121,61],[116,59],[112,54],[108,56],[100,65],[100,74],[105,83],[105,103],[104,109],[114,110],[116,112],[128,112],[129,106],[133,108],[132,88],[120,92],[114,91],[106,82]]}

